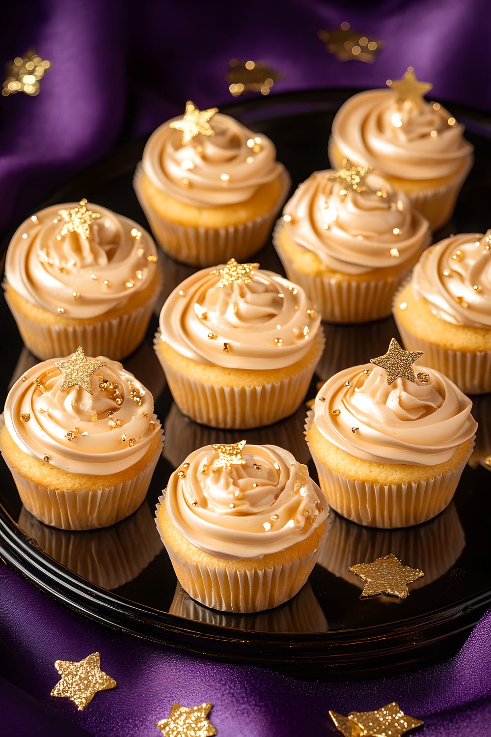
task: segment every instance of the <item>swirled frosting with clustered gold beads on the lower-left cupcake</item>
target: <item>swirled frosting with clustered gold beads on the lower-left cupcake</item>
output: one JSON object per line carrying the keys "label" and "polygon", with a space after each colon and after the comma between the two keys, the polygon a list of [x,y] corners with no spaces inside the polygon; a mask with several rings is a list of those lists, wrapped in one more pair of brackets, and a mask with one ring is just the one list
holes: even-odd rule
{"label": "swirled frosting with clustered gold beads on the lower-left cupcake", "polygon": [[[29,368],[10,389],[4,419],[15,444],[33,458],[47,455],[55,468],[80,474],[110,475],[143,458],[160,432],[152,394],[121,363],[104,356],[98,360],[105,366],[91,377],[93,394],[79,386],[61,391],[56,360]],[[119,385],[120,404],[113,390],[102,388],[105,381]]]}

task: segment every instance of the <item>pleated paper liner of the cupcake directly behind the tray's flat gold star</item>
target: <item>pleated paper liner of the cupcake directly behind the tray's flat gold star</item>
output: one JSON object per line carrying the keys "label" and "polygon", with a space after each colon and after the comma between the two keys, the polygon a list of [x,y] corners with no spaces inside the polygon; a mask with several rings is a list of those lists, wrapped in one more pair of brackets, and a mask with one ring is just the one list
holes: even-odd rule
{"label": "pleated paper liner of the cupcake directly behind the tray's flat gold star", "polygon": [[[313,420],[314,412],[310,410],[305,432]],[[384,484],[353,481],[325,467],[307,444],[329,506],[358,525],[381,528],[411,527],[436,517],[451,503],[474,447],[473,441],[459,466],[449,472],[420,481]]]}

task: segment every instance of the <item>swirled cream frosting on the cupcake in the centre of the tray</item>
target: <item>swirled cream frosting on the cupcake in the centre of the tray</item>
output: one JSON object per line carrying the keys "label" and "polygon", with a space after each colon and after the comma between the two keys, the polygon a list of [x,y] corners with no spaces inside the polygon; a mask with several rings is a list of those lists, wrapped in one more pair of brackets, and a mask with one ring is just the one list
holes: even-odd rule
{"label": "swirled cream frosting on the cupcake in the centre of the tray", "polygon": [[191,360],[226,368],[283,368],[301,360],[320,326],[303,289],[263,269],[247,284],[222,286],[213,273],[220,268],[202,269],[174,289],[160,312],[162,339]]}

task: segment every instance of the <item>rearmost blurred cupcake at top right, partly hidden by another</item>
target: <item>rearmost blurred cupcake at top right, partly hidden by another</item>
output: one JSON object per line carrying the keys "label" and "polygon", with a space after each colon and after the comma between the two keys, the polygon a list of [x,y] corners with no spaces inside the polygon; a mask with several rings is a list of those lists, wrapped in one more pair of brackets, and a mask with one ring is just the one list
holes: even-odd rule
{"label": "rearmost blurred cupcake at top right, partly hidden by another", "polygon": [[473,164],[464,126],[423,95],[432,85],[418,82],[412,67],[387,90],[353,95],[333,120],[329,159],[372,166],[437,230],[451,217],[457,195]]}

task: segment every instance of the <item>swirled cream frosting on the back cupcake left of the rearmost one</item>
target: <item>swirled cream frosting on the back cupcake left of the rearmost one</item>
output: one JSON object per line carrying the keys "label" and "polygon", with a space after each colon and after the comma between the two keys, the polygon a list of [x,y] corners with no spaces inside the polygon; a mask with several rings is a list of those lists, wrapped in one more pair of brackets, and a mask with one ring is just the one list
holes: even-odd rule
{"label": "swirled cream frosting on the back cupcake left of the rearmost one", "polygon": [[214,135],[199,134],[184,146],[173,120],[152,133],[143,155],[145,174],[172,198],[197,207],[245,202],[285,172],[272,141],[228,115],[216,113]]}

